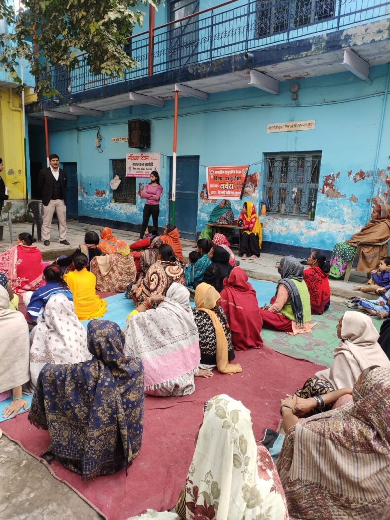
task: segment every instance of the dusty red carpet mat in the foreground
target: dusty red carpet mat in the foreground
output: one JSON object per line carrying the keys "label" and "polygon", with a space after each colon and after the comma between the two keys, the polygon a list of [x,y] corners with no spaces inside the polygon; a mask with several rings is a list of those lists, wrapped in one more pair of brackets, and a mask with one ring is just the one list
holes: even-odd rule
{"label": "dusty red carpet mat in the foreground", "polygon": [[[241,363],[242,373],[215,372],[210,379],[195,378],[197,389],[189,396],[146,397],[142,447],[127,477],[122,470],[83,483],[79,475],[58,462],[50,465],[51,472],[109,520],[125,520],[146,508],[172,508],[185,483],[207,399],[224,393],[241,400],[252,412],[253,431],[259,439],[265,427],[277,427],[280,398],[322,368],[267,347],[238,352],[236,362]],[[49,436],[32,426],[27,415],[3,422],[2,428],[24,450],[39,457],[49,444]]]}

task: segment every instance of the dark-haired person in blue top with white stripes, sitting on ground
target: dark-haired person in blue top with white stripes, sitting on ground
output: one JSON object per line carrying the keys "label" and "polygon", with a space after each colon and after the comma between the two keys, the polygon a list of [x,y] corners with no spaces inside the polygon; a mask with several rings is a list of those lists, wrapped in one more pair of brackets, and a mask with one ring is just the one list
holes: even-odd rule
{"label": "dark-haired person in blue top with white stripes, sitting on ground", "polygon": [[46,304],[53,294],[63,294],[68,300],[73,300],[72,293],[63,280],[60,266],[57,264],[48,265],[43,271],[43,277],[46,285],[33,293],[25,293],[23,296],[23,302],[27,303],[25,319],[28,323],[38,321],[38,317],[43,316]]}

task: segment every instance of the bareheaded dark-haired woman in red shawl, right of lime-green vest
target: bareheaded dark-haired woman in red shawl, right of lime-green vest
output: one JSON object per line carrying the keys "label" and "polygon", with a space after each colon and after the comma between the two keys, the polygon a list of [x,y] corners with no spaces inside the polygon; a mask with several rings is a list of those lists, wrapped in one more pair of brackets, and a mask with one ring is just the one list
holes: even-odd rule
{"label": "bareheaded dark-haired woman in red shawl, right of lime-green vest", "polygon": [[307,264],[310,267],[303,271],[303,280],[309,291],[311,314],[322,314],[330,305],[330,265],[325,256],[318,251],[310,254]]}

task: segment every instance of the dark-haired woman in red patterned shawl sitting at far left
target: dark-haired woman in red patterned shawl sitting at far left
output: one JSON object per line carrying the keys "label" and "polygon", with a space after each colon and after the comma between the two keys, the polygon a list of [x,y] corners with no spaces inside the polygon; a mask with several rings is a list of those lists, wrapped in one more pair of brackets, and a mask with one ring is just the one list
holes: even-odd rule
{"label": "dark-haired woman in red patterned shawl sitting at far left", "polygon": [[19,233],[17,245],[0,255],[0,271],[16,294],[35,291],[44,285],[43,257],[30,233]]}

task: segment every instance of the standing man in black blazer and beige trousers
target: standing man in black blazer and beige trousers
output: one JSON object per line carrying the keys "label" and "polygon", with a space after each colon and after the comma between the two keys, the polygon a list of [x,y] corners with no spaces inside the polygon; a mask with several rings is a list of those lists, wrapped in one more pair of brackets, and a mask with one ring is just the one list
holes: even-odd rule
{"label": "standing man in black blazer and beige trousers", "polygon": [[50,166],[41,170],[38,175],[38,190],[42,193],[43,224],[42,238],[44,245],[50,245],[51,220],[57,213],[60,225],[60,244],[67,242],[67,173],[59,168],[60,158],[56,153],[49,155]]}

